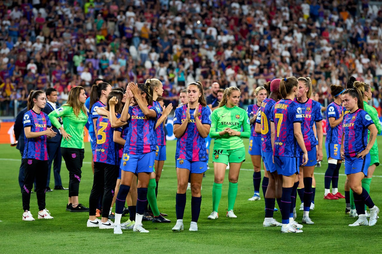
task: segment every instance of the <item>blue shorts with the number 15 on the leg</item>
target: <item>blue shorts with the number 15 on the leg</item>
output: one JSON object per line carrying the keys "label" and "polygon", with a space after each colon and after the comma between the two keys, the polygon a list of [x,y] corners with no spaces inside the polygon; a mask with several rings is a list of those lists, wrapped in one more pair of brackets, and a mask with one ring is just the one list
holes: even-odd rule
{"label": "blue shorts with the number 15 on the leg", "polygon": [[154,169],[155,151],[143,154],[122,154],[121,169],[134,174],[151,173]]}

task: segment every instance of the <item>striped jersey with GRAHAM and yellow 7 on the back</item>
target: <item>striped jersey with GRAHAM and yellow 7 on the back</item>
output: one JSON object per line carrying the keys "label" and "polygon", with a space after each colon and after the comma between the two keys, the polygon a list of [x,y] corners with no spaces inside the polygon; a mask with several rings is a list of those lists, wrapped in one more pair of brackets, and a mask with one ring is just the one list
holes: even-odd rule
{"label": "striped jersey with GRAHAM and yellow 7 on the back", "polygon": [[300,106],[292,100],[280,100],[273,106],[270,119],[275,123],[274,156],[299,157],[301,148],[294,135],[293,124],[303,122]]}

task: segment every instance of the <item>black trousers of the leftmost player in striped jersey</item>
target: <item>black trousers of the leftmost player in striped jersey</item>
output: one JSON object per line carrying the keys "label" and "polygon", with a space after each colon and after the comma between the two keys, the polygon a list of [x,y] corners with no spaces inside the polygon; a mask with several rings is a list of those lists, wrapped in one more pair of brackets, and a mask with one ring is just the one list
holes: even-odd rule
{"label": "black trousers of the leftmost player in striped jersey", "polygon": [[36,178],[36,195],[39,211],[45,209],[45,190],[48,176],[48,161],[36,159],[23,159],[24,164],[24,186],[21,196],[23,198],[23,210],[30,209],[31,191]]}

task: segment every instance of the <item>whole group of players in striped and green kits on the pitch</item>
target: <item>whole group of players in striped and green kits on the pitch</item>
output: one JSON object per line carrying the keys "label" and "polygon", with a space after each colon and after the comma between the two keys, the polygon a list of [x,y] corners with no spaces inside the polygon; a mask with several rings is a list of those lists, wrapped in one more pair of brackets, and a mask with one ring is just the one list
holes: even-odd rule
{"label": "whole group of players in striped and green kits on the pitch", "polygon": [[[350,226],[372,226],[377,222],[379,209],[369,195],[369,186],[372,173],[379,165],[376,135],[381,126],[376,110],[366,103],[371,99],[371,87],[356,81],[352,88],[345,90],[332,85],[331,90],[334,101],[326,109],[329,123],[325,147],[329,166],[325,173],[324,198],[345,198],[345,212],[351,217],[358,216]],[[302,202],[301,223],[314,224],[309,211],[314,209],[314,168],[323,157],[323,128],[321,106],[311,99],[311,80],[309,77],[274,79],[264,87],[257,87],[255,92],[257,104],[249,105],[247,111],[238,107],[240,90],[236,87],[224,90],[213,111],[207,106],[200,82],[189,84],[181,92],[182,103],[175,109],[173,119],[173,133],[178,139],[175,152],[178,185],[176,224],[172,231],[184,228],[188,186],[191,188],[189,230],[198,230],[201,184],[207,170],[211,138],[215,139],[211,154],[214,183],[212,212],[208,219],[219,217],[227,166],[226,216],[236,218],[233,208],[240,167],[246,154],[243,138],[250,138],[248,152],[254,165],[254,195],[249,200],[260,199],[262,159],[265,171],[261,184],[265,200],[264,227],[281,226],[282,233],[302,232],[303,225],[295,221],[297,192]],[[53,219],[45,209],[45,186],[48,172],[46,142],[47,138],[57,134],[52,130],[54,126],[62,134],[61,152],[70,176],[66,209],[89,212],[87,227],[113,228],[115,234],[122,234],[123,229],[147,233],[142,220],[170,223],[165,219],[166,214],[159,212],[156,200],[166,160],[163,124],[173,109],[172,104],[163,105],[162,94],[163,85],[158,79],[147,79],[145,84],[130,82],[126,91],[112,89],[102,80],[92,86],[89,119],[94,125],[91,134],[94,182],[87,208],[78,199],[84,159],[84,126],[88,121],[85,91],[83,87],[73,87],[67,103],[49,115],[42,112],[46,104],[45,93],[31,92],[28,111],[23,117],[23,220],[34,220],[29,203],[35,178],[38,218]],[[338,171],[342,161],[345,161],[347,175],[345,196],[338,192]],[[273,218],[277,210],[275,201],[282,214],[281,223]],[[366,211],[366,206],[370,212]],[[121,217],[127,211],[130,217],[121,223]],[[97,219],[98,212],[101,219]]]}

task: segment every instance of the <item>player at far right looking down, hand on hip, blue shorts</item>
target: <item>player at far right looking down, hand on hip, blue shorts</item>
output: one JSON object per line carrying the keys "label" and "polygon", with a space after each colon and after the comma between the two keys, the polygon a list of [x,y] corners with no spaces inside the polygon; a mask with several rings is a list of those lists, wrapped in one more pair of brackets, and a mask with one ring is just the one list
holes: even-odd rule
{"label": "player at far right looking down, hand on hip, blue shorts", "polygon": [[[345,174],[349,179],[358,213],[358,220],[349,226],[374,226],[379,213],[379,208],[374,205],[371,196],[361,185],[371,163],[369,151],[377,138],[376,125],[371,116],[363,110],[362,97],[356,88],[346,89],[342,95],[343,105],[350,112],[343,119],[340,153],[341,159],[345,161]],[[370,131],[369,140],[367,140],[367,130]],[[369,222],[365,215],[365,204],[370,209]]]}

